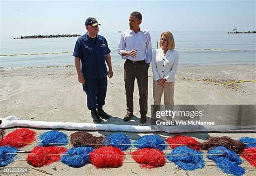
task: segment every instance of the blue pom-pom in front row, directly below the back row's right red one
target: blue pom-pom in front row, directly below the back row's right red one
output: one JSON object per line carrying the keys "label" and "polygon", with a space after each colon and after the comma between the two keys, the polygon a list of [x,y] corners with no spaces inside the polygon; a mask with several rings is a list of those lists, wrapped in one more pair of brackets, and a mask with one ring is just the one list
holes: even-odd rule
{"label": "blue pom-pom in front row, directly below the back row's right red one", "polygon": [[194,171],[205,166],[203,152],[187,146],[174,148],[170,154],[167,154],[166,158],[185,171]]}

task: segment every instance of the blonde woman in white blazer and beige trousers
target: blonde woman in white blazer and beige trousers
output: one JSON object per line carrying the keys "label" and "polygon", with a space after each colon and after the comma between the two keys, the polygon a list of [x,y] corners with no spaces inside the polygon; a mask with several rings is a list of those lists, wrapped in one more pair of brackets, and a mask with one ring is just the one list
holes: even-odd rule
{"label": "blonde woman in white blazer and beige trousers", "polygon": [[174,48],[172,33],[166,31],[161,33],[160,49],[152,53],[154,105],[160,105],[164,91],[165,109],[174,105],[174,80],[179,64],[179,52]]}

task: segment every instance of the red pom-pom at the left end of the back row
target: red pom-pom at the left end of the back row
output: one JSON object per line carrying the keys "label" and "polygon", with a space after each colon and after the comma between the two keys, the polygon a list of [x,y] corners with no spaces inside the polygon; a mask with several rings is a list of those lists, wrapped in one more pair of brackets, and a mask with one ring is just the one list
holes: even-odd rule
{"label": "red pom-pom at the left end of the back row", "polygon": [[28,128],[19,128],[7,134],[0,146],[8,145],[15,148],[24,147],[36,140],[35,135],[35,131],[29,130]]}

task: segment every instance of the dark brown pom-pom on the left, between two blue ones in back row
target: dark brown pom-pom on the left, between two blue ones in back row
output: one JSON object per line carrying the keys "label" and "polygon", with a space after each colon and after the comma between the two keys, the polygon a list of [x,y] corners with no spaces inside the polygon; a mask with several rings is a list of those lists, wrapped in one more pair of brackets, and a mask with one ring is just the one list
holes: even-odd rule
{"label": "dark brown pom-pom on the left, between two blue ones in back row", "polygon": [[70,136],[70,141],[73,147],[92,147],[99,148],[103,146],[103,136],[93,136],[91,133],[85,131],[78,131],[72,133]]}

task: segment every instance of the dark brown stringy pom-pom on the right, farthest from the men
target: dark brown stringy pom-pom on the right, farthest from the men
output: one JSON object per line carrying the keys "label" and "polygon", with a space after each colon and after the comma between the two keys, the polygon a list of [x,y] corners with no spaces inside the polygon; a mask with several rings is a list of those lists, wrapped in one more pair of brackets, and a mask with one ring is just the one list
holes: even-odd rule
{"label": "dark brown stringy pom-pom on the right, farthest from the men", "polygon": [[245,144],[241,143],[238,140],[234,140],[230,137],[212,137],[209,138],[206,142],[201,143],[201,148],[203,150],[209,150],[213,147],[224,146],[228,150],[232,150],[235,153],[242,153],[242,150],[245,149]]}

